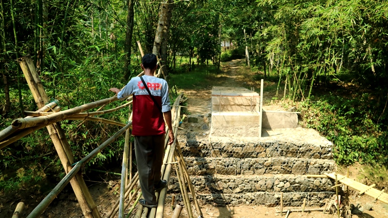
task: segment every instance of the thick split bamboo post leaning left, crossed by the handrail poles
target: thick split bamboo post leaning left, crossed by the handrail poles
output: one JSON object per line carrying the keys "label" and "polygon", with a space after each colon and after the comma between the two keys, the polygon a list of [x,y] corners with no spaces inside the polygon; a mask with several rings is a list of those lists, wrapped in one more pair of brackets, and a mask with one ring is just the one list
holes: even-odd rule
{"label": "thick split bamboo post leaning left, crossed by the handrail poles", "polygon": [[[28,81],[31,92],[33,93],[32,95],[35,98],[35,102],[39,108],[43,108],[45,106],[44,102],[49,102],[49,98],[43,89],[42,82],[36,73],[31,57],[23,57],[17,61],[19,62],[20,68],[22,69],[23,74]],[[47,126],[47,128],[65,172],[68,173],[72,169],[71,164],[74,163],[74,157],[70,150],[70,146],[65,139],[65,134],[61,128],[61,125],[53,124]],[[86,218],[100,218],[97,205],[94,203],[81,174],[77,174],[75,178],[71,179],[70,184],[73,187],[78,202],[80,203],[83,215]]]}

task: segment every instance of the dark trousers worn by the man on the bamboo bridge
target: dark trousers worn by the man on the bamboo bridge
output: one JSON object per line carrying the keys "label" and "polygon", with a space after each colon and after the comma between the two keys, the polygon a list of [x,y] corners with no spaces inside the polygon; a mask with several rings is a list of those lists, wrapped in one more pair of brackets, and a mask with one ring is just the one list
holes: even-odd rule
{"label": "dark trousers worn by the man on the bamboo bridge", "polygon": [[161,180],[164,135],[135,136],[135,155],[143,198],[156,204],[154,185]]}

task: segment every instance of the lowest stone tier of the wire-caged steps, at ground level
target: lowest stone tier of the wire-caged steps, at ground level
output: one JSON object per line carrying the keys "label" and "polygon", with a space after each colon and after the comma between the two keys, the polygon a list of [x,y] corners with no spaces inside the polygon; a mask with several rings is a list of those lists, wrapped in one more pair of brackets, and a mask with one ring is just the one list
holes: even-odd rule
{"label": "lowest stone tier of the wire-caged steps, at ground level", "polygon": [[[175,201],[183,201],[180,194],[174,194]],[[303,199],[306,199],[306,207],[319,206],[322,207],[326,199],[331,199],[335,192],[288,192],[283,193],[283,206],[298,207],[303,204]],[[212,204],[214,206],[226,206],[230,204],[237,206],[240,204],[255,204],[275,207],[280,205],[279,192],[252,192],[252,193],[237,193],[237,194],[219,194],[219,193],[196,193],[195,196],[203,204]],[[192,196],[190,195],[192,199]],[[166,203],[171,202],[171,194],[168,194]]]}

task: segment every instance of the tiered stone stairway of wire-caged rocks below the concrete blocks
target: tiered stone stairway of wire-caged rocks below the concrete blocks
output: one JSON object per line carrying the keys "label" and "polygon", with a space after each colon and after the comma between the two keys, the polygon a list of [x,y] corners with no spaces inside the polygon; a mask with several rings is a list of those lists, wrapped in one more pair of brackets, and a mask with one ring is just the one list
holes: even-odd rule
{"label": "tiered stone stairway of wire-caged rocks below the concrete blocks", "polygon": [[[246,103],[239,104],[248,107]],[[306,176],[337,170],[332,143],[315,130],[263,129],[259,138],[257,125],[250,129],[252,122],[245,124],[245,130],[251,130],[248,134],[239,132],[244,131],[243,122],[237,132],[233,126],[227,131],[222,126],[212,131],[213,115],[210,111],[188,115],[178,134],[196,196],[202,203],[277,206],[283,192],[284,206],[301,206],[306,199],[308,207],[322,206],[335,194],[330,179]],[[219,113],[217,119],[222,116]],[[256,119],[254,114],[252,120]],[[174,173],[169,193],[181,200]],[[166,202],[170,199],[171,195]]]}

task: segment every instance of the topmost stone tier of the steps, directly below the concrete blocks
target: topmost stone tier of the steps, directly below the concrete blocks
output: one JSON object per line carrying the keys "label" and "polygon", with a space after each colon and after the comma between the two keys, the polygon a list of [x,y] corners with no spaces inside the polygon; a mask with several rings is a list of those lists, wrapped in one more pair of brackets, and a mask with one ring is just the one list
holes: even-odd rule
{"label": "topmost stone tier of the steps, directly below the concrete blocks", "polygon": [[244,141],[226,137],[211,139],[187,133],[178,137],[184,156],[212,157],[297,157],[331,159],[331,143],[297,143],[279,140]]}

